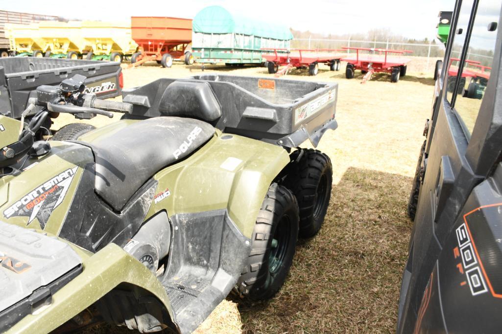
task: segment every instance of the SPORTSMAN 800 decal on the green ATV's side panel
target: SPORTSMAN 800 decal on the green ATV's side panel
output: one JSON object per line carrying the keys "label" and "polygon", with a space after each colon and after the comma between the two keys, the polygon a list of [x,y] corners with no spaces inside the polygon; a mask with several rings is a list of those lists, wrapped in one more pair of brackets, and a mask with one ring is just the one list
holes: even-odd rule
{"label": "SPORTSMAN 800 decal on the green ATV's side panel", "polygon": [[63,202],[77,169],[68,169],[23,196],[4,211],[5,218],[29,217],[27,225],[37,218],[44,229],[52,211]]}

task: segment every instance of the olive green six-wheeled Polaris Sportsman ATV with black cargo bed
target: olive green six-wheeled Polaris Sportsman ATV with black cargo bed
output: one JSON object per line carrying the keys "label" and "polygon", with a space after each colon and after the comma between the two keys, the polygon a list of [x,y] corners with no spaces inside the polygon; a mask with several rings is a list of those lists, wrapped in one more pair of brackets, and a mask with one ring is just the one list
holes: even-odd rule
{"label": "olive green six-wheeled Polaris Sportsman ATV with black cargo bed", "polygon": [[[0,116],[0,331],[187,333],[232,290],[274,296],[326,215],[331,161],[297,147],[336,128],[337,85],[160,79],[112,102],[84,80],[38,87],[29,124]],[[34,142],[50,113],[111,111]]]}

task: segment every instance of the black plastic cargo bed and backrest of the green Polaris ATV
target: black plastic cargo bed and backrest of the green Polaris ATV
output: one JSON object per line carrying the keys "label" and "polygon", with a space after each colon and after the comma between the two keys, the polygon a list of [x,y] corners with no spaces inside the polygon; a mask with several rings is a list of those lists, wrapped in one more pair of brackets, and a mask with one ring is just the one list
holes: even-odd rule
{"label": "black plastic cargo bed and backrest of the green Polaris ATV", "polygon": [[129,117],[193,117],[223,132],[293,148],[307,139],[317,146],[327,129],[336,129],[337,90],[336,83],[200,75],[158,79],[122,95],[134,104]]}

